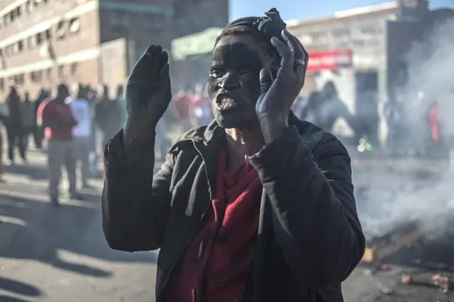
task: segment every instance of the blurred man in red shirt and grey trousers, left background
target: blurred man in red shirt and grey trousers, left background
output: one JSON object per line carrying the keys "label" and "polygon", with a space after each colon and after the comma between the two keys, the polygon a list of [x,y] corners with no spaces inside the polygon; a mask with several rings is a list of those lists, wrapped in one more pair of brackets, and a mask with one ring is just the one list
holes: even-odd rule
{"label": "blurred man in red shirt and grey trousers, left background", "polygon": [[77,121],[65,103],[70,91],[65,84],[57,87],[55,99],[46,99],[38,108],[38,125],[45,127],[48,140],[49,194],[52,206],[59,203],[61,167],[65,165],[70,181],[70,197],[82,199],[76,189],[76,157],[72,145],[72,128]]}

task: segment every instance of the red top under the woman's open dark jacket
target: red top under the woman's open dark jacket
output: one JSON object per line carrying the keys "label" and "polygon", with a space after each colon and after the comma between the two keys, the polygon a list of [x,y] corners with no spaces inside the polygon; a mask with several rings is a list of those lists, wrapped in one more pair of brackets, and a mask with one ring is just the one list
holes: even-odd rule
{"label": "red top under the woman's open dark jacket", "polygon": [[257,242],[262,184],[248,162],[226,173],[226,152],[218,157],[213,211],[206,213],[167,284],[166,302],[240,301]]}

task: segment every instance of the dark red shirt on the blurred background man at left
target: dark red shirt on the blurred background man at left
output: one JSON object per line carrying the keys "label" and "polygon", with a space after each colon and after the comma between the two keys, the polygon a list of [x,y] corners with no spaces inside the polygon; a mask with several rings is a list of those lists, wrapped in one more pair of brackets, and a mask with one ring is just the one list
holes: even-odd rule
{"label": "dark red shirt on the blurred background man at left", "polygon": [[[43,119],[43,121],[46,119],[53,121],[74,119],[68,104],[50,99],[45,99],[40,104],[36,115],[38,120]],[[72,126],[46,127],[44,135],[46,140],[72,140]]]}

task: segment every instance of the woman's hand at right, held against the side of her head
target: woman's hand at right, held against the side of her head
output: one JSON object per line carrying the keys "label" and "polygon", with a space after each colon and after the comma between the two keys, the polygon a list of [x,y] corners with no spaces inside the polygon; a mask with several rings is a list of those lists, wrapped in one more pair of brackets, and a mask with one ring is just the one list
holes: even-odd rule
{"label": "woman's hand at right, held against the side of her head", "polygon": [[269,69],[260,71],[260,94],[255,112],[262,127],[265,142],[269,142],[280,131],[288,127],[290,108],[304,86],[309,55],[299,40],[286,29],[281,40],[273,37],[272,45],[281,59],[276,79]]}

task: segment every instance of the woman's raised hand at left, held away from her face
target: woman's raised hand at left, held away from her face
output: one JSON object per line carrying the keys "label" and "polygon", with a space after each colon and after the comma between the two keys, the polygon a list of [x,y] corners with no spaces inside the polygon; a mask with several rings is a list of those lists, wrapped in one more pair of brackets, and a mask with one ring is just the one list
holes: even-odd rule
{"label": "woman's raised hand at left, held away from her face", "polygon": [[128,120],[123,129],[123,142],[154,134],[155,126],[172,99],[169,55],[160,45],[150,45],[140,57],[126,84]]}

